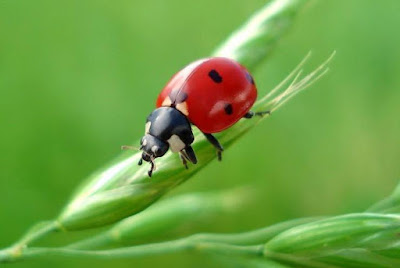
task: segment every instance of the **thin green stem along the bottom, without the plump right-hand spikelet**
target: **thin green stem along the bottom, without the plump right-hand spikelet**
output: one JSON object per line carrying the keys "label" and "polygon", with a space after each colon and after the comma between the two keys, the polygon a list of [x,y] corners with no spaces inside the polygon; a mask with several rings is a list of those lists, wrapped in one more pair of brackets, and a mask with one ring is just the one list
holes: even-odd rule
{"label": "thin green stem along the bottom, without the plump right-hand spikelet", "polygon": [[[58,257],[93,257],[93,258],[128,258],[144,257],[149,255],[161,255],[183,251],[198,251],[216,254],[232,255],[262,255],[261,246],[265,241],[273,238],[277,234],[288,230],[294,226],[309,223],[320,218],[296,219],[276,225],[272,225],[259,230],[254,230],[238,234],[195,234],[187,238],[155,243],[149,245],[140,245],[111,250],[81,250],[74,248],[24,248],[21,253],[9,261],[15,261],[27,258],[36,258],[42,256]],[[104,237],[103,237],[104,238]],[[108,238],[105,238],[108,239]],[[88,241],[85,246],[96,246],[97,242]],[[82,245],[80,245],[82,246]],[[272,254],[272,253],[271,253]],[[289,258],[289,255],[287,256]],[[290,257],[294,258],[293,256]],[[0,262],[2,256],[0,255]],[[289,261],[289,260],[288,260]]]}

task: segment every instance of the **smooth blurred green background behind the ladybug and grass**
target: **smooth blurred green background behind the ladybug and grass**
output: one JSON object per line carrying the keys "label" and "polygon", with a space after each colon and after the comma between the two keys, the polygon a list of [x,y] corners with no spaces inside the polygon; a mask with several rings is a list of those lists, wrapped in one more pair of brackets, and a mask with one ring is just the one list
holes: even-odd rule
{"label": "smooth blurred green background behind the ladybug and grass", "polygon": [[[90,172],[141,137],[158,92],[262,0],[0,2],[0,248],[58,214]],[[400,174],[400,2],[312,1],[254,73],[260,94],[309,51],[331,72],[170,195],[250,185],[257,200],[182,230],[238,232],[362,211]],[[240,197],[238,197],[240,198]],[[56,238],[64,241],[65,236]],[[55,241],[57,242],[57,241]],[[214,267],[203,255],[13,267]]]}

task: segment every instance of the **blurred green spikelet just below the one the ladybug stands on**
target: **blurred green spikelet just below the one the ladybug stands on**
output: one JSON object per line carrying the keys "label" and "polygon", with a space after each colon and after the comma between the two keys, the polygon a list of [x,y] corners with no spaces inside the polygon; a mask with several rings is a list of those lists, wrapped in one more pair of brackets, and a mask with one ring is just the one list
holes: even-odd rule
{"label": "blurred green spikelet just below the one the ladybug stands on", "polygon": [[[189,193],[162,200],[142,211],[114,224],[110,229],[88,239],[69,245],[75,249],[97,249],[110,245],[130,245],[135,241],[155,237],[201,219],[215,220],[233,213],[252,199],[248,188],[219,192]],[[240,198],[237,198],[240,196]]]}

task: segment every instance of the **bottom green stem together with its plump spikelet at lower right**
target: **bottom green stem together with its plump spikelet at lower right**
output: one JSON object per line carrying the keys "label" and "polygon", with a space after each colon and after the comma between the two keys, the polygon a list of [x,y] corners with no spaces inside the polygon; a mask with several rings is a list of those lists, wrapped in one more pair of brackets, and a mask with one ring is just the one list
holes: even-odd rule
{"label": "bottom green stem together with its plump spikelet at lower right", "polygon": [[246,233],[197,234],[109,250],[27,247],[13,259],[0,252],[0,262],[48,256],[115,259],[200,252],[266,258],[300,267],[398,267],[399,228],[399,215],[356,213],[293,220]]}

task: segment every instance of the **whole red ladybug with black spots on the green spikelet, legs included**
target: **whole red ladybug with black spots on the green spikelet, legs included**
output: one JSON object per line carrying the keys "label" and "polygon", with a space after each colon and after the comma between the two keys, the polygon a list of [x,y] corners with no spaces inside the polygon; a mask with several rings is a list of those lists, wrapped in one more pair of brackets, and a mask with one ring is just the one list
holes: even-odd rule
{"label": "whole red ladybug with black spots on the green spikelet, legs included", "polygon": [[145,135],[140,141],[143,160],[151,164],[168,149],[179,152],[182,163],[197,163],[191,147],[195,125],[216,148],[218,160],[224,150],[212,135],[223,131],[241,118],[267,112],[250,111],[257,98],[251,74],[238,62],[213,57],[197,60],[176,73],[157,98],[156,109],[147,117]]}

